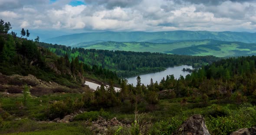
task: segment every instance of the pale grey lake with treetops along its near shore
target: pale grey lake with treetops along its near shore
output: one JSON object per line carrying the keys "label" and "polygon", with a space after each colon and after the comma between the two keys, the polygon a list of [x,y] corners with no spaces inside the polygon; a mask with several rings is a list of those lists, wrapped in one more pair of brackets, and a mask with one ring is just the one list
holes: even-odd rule
{"label": "pale grey lake with treetops along its near shore", "polygon": [[[144,85],[150,84],[150,79],[152,78],[153,81],[158,81],[158,83],[163,79],[166,79],[167,75],[173,74],[176,79],[182,75],[183,77],[186,77],[187,74],[190,74],[188,71],[182,71],[183,68],[190,68],[192,69],[192,66],[182,65],[182,66],[174,66],[174,67],[168,67],[165,71],[156,72],[156,73],[150,73],[150,74],[142,74],[141,77],[141,83]],[[133,84],[134,86],[137,84],[137,77],[129,77],[125,78],[128,80],[129,84]]]}

